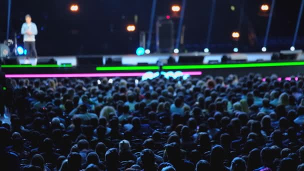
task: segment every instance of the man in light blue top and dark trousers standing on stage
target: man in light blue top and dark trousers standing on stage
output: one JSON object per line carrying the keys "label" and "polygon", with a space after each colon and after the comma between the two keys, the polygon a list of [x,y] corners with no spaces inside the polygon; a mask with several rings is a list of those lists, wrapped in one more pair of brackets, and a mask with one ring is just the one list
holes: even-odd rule
{"label": "man in light blue top and dark trousers standing on stage", "polygon": [[25,22],[22,24],[21,34],[23,34],[24,48],[26,49],[26,58],[24,63],[29,63],[29,57],[35,57],[35,63],[37,62],[37,51],[35,45],[35,35],[38,30],[35,23],[31,22],[31,16],[25,15]]}

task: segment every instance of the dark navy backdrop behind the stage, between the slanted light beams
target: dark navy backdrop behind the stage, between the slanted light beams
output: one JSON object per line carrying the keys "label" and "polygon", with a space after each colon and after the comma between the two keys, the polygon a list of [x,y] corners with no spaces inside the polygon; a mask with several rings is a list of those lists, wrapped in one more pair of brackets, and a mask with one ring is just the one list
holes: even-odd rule
{"label": "dark navy backdrop behind the stage, between the slanted light beams", "polygon": [[[230,52],[236,45],[231,32],[238,29],[243,0],[216,0],[210,51]],[[244,0],[244,16],[240,27],[240,51],[260,51],[268,17],[258,15],[262,3],[268,0]],[[291,46],[301,0],[276,0],[267,49],[278,51]],[[77,3],[79,12],[69,11]],[[156,16],[171,14],[170,6],[181,0],[158,0]],[[24,15],[29,13],[38,26],[36,45],[39,55],[121,54],[134,53],[139,45],[139,31],[148,31],[152,0],[12,0],[10,38],[19,35]],[[230,5],[235,10],[230,10]],[[185,8],[184,47],[187,51],[202,51],[205,47],[211,0],[187,0]],[[135,32],[125,27],[134,23]],[[0,0],[0,41],[5,39],[7,0]],[[304,17],[300,24],[296,48],[304,47]],[[177,30],[178,18],[173,19]],[[153,28],[151,51],[155,49]],[[248,36],[250,35],[250,36]],[[248,38],[253,37],[253,38]]]}

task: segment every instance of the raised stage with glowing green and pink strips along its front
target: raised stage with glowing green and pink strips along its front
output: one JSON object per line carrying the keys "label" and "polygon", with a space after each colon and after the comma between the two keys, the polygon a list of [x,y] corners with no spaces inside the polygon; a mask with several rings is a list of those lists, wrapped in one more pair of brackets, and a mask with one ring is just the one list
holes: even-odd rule
{"label": "raised stage with glowing green and pink strips along its front", "polygon": [[[102,64],[77,63],[78,56],[41,56],[39,59],[55,59],[56,64],[23,64],[24,57],[19,56],[20,64],[2,64],[1,70],[8,78],[33,78],[33,77],[116,77],[116,76],[142,76],[146,72],[181,71],[182,74],[192,76],[199,75],[222,75],[230,73],[244,75],[249,72],[258,72],[262,75],[276,73],[285,77],[303,73],[304,57],[301,51],[297,60],[293,61],[271,61],[272,53],[231,53],[232,62],[221,64],[223,54],[210,54],[203,52],[179,53],[177,54],[149,54],[149,55],[86,55],[85,57],[96,57],[102,60]],[[167,64],[167,59],[172,56],[176,64]],[[180,56],[195,57],[204,56],[200,63],[177,63]],[[105,65],[107,58],[121,60],[119,65]],[[33,62],[34,59],[31,59]],[[239,62],[245,60],[246,62]],[[83,61],[83,60],[82,60]],[[162,61],[163,65],[156,65]],[[85,62],[86,63],[86,62]],[[212,63],[212,64],[211,64]]]}

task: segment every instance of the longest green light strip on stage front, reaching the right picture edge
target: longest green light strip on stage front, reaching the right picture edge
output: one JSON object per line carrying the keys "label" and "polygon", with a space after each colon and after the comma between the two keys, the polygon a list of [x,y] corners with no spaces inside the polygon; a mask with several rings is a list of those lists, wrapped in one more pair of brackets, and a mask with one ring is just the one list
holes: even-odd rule
{"label": "longest green light strip on stage front, reaching the right picture edge", "polygon": [[231,64],[200,64],[200,65],[167,65],[164,70],[170,69],[214,69],[214,68],[238,68],[238,67],[270,67],[270,66],[297,66],[304,65],[304,61],[296,62],[266,62],[266,63],[231,63]]}

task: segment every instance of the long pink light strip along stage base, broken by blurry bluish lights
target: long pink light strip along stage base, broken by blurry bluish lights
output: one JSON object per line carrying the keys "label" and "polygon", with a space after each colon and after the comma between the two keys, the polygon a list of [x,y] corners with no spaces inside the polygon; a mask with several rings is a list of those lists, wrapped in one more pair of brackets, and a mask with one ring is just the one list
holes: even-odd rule
{"label": "long pink light strip along stage base, broken by blurry bluish lights", "polygon": [[[53,78],[53,77],[116,77],[142,76],[145,72],[120,73],[42,73],[42,74],[5,74],[6,78]],[[182,72],[189,75],[201,75],[200,71]]]}

